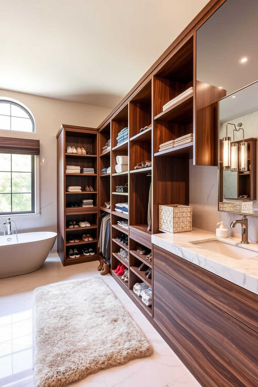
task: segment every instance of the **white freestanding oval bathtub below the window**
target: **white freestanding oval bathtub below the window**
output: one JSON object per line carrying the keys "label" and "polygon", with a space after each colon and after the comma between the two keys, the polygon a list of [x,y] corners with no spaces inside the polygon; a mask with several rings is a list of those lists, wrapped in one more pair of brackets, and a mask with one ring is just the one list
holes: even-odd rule
{"label": "white freestanding oval bathtub below the window", "polygon": [[40,269],[48,257],[56,233],[42,231],[0,236],[0,278],[19,276]]}

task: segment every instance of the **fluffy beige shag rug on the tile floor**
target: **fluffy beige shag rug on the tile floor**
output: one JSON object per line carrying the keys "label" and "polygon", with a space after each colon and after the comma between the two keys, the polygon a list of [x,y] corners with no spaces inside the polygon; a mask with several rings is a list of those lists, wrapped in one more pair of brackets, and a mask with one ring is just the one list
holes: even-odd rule
{"label": "fluffy beige shag rug on the tile floor", "polygon": [[152,354],[152,346],[99,277],[34,290],[34,380],[60,387]]}

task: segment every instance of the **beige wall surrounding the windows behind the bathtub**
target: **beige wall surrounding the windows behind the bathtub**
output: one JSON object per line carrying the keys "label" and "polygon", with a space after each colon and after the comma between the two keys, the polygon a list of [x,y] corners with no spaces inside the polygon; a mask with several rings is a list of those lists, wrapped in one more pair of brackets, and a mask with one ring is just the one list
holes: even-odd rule
{"label": "beige wall surrounding the windows behind the bathtub", "polygon": [[[56,133],[61,124],[96,128],[111,109],[2,89],[0,97],[13,98],[26,105],[36,123],[35,133],[0,130],[0,136],[40,140],[40,216],[14,216],[18,233],[56,231]],[[56,251],[56,244],[52,251]]]}

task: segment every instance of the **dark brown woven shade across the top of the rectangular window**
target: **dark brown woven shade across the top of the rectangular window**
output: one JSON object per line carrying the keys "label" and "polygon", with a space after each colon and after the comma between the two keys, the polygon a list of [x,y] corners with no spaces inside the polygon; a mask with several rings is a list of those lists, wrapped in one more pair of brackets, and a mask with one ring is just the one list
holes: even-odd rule
{"label": "dark brown woven shade across the top of the rectangular window", "polygon": [[0,137],[0,153],[39,155],[39,140]]}

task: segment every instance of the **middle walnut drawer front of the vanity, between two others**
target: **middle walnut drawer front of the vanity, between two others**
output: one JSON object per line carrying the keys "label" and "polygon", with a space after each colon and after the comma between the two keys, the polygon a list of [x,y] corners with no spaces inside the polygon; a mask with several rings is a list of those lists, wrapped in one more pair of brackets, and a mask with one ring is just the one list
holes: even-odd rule
{"label": "middle walnut drawer front of the vanity, between two others", "polygon": [[154,290],[258,379],[258,334],[159,269]]}

